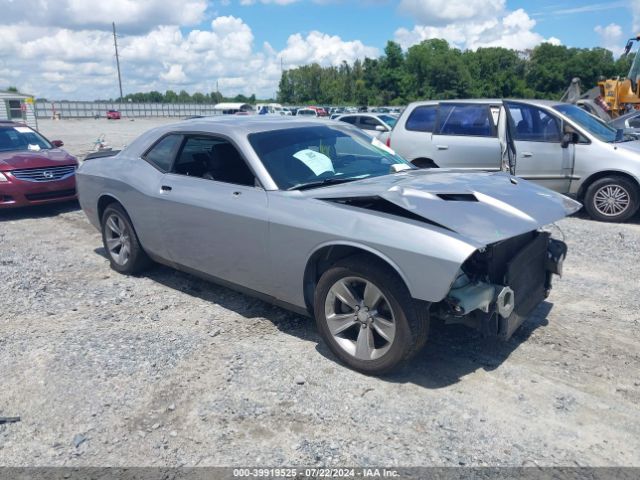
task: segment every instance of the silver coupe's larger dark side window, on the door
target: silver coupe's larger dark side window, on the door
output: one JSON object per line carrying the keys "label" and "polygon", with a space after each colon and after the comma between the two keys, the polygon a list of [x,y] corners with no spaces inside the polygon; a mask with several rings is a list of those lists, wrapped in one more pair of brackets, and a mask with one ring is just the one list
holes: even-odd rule
{"label": "silver coupe's larger dark side window, on the door", "polygon": [[176,159],[173,173],[236,185],[255,185],[255,176],[229,141],[190,135]]}

